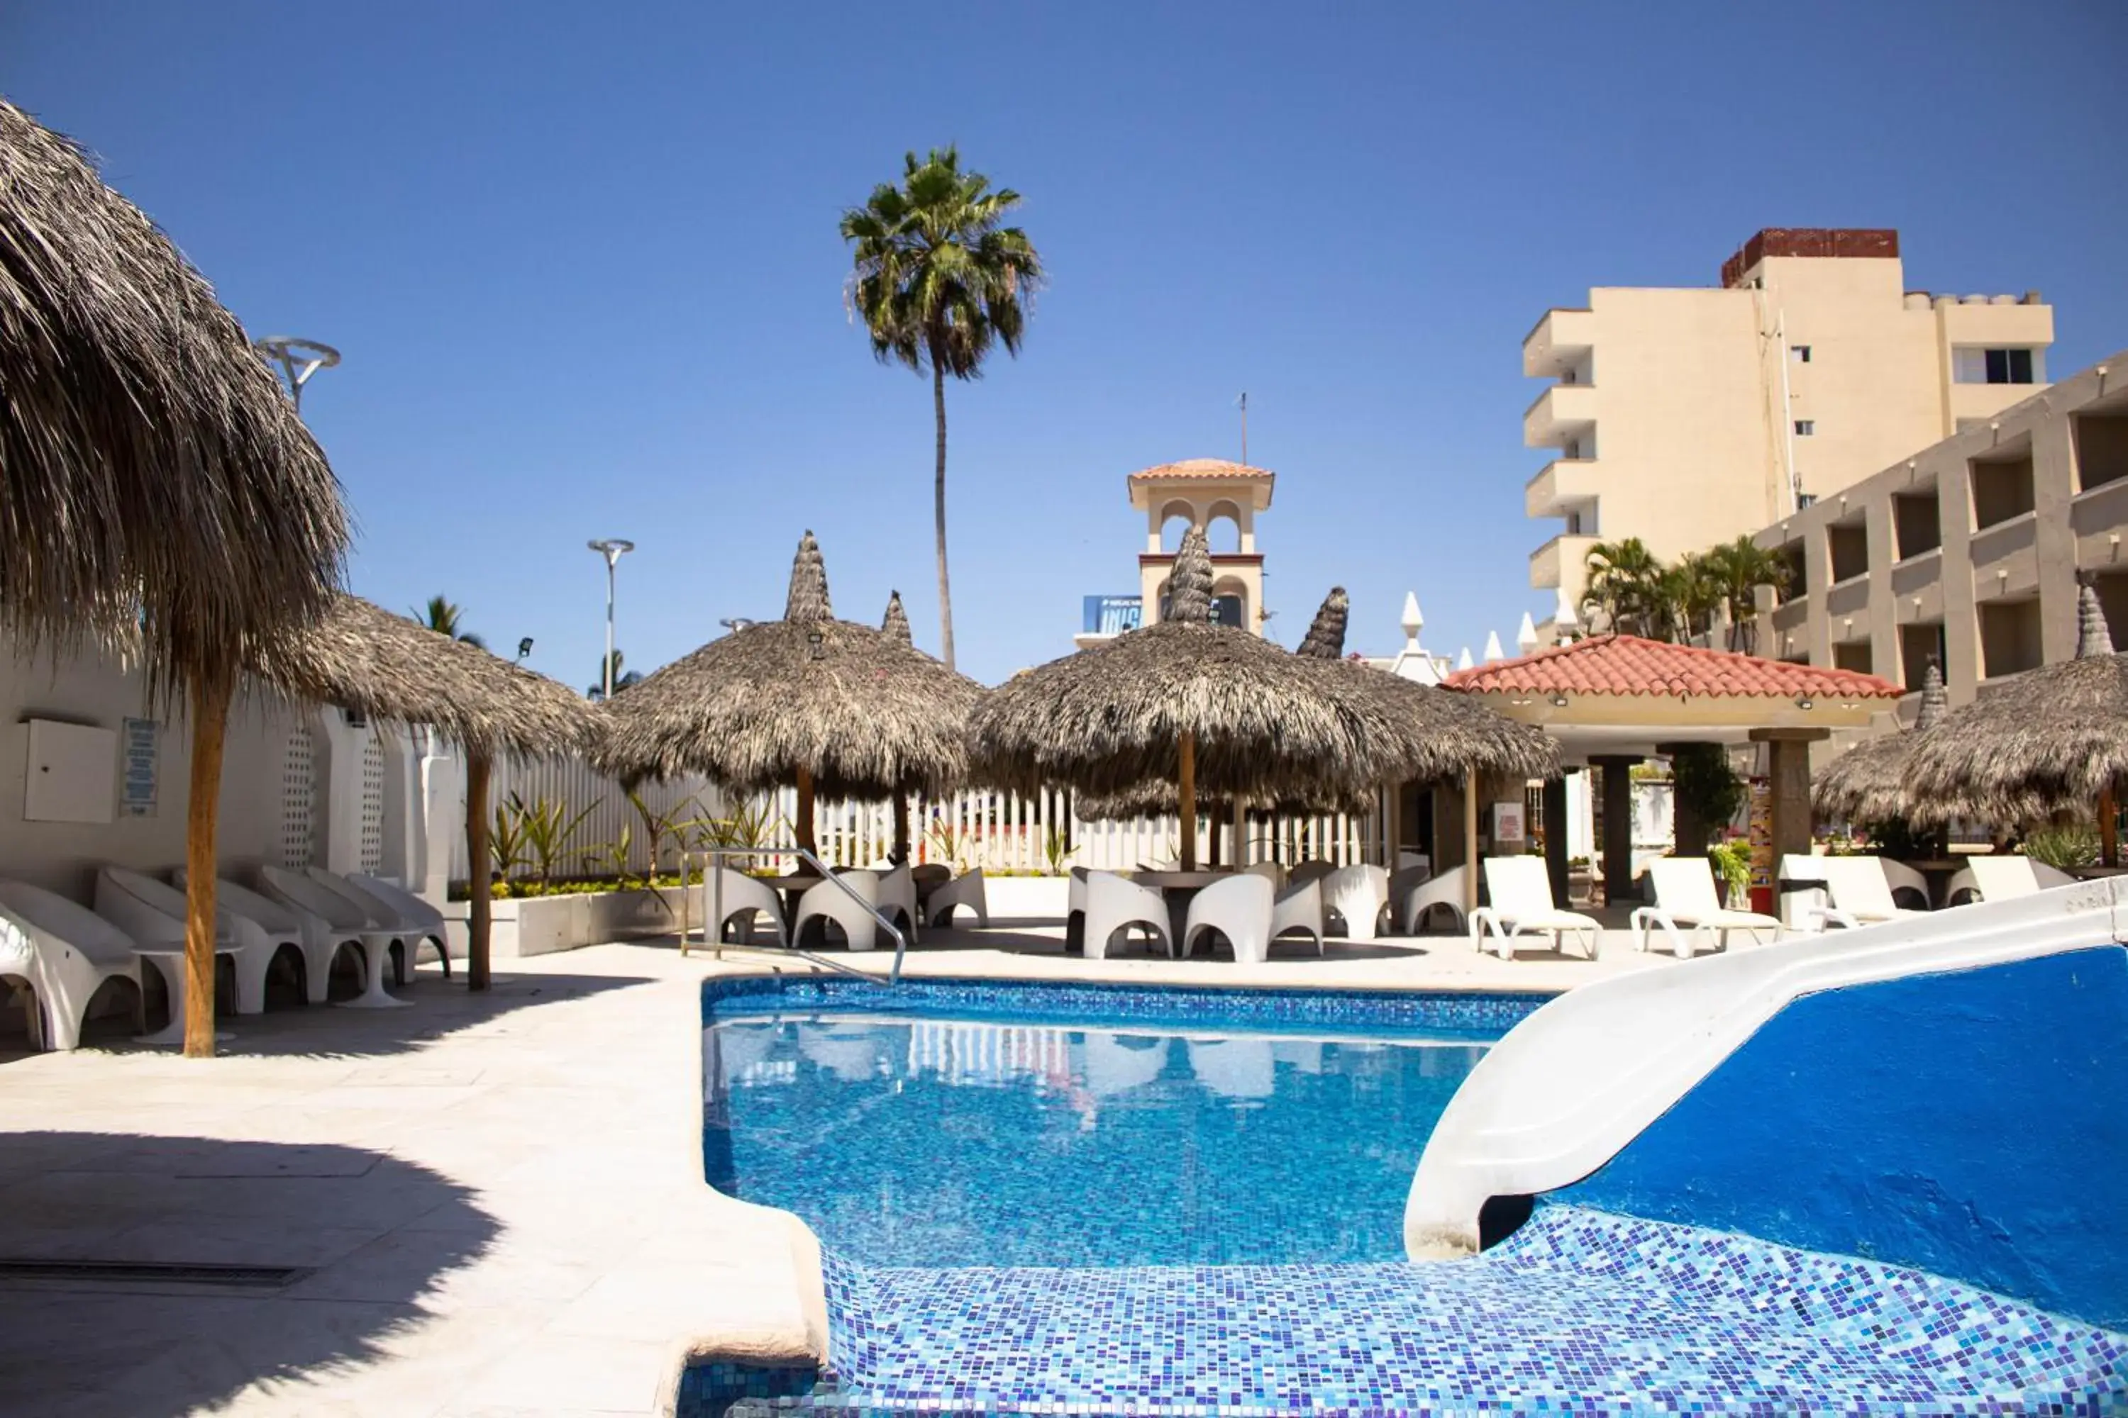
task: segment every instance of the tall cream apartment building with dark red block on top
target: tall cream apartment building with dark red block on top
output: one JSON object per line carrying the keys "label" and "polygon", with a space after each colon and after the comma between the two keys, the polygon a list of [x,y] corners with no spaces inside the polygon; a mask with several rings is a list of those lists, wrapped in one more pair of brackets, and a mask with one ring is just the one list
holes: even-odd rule
{"label": "tall cream apartment building with dark red block on top", "polygon": [[1909,291],[1885,230],[1764,230],[1719,287],[1596,287],[1522,342],[1553,381],[1522,417],[1553,449],[1524,504],[1564,521],[1530,585],[1577,606],[1598,540],[1670,559],[1845,491],[2045,387],[2051,342],[2036,291]]}

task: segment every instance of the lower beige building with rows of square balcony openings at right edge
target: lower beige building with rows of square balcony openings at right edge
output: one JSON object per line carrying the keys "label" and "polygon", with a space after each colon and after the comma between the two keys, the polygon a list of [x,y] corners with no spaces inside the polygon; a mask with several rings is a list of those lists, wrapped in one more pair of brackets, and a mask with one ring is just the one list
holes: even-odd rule
{"label": "lower beige building with rows of square balcony openings at right edge", "polygon": [[2128,648],[2128,351],[1896,459],[1758,531],[1800,572],[1753,623],[1760,655],[1866,670],[1917,708],[1928,657],[1951,704],[2077,648],[2092,576]]}

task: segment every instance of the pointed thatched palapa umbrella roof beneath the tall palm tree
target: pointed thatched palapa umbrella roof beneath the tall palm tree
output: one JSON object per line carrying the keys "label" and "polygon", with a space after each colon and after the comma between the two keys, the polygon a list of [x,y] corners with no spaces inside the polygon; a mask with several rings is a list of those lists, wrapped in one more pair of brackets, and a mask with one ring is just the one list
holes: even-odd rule
{"label": "pointed thatched palapa umbrella roof beneath the tall palm tree", "polygon": [[807,531],[781,621],[749,625],[602,706],[609,772],[698,772],[753,793],[813,774],[824,799],[938,793],[968,774],[983,687],[870,625],[836,621]]}

